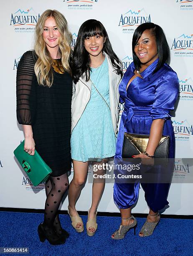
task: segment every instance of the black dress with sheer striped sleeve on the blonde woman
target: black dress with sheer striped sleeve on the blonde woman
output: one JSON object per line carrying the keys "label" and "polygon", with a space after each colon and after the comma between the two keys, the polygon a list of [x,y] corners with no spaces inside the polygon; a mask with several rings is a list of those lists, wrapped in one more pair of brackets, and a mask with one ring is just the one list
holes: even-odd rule
{"label": "black dress with sheer striped sleeve on the blonde woman", "polygon": [[17,119],[32,125],[36,150],[56,177],[71,169],[72,79],[69,73],[59,74],[52,68],[52,86],[39,85],[36,58],[34,51],[27,51],[18,64]]}

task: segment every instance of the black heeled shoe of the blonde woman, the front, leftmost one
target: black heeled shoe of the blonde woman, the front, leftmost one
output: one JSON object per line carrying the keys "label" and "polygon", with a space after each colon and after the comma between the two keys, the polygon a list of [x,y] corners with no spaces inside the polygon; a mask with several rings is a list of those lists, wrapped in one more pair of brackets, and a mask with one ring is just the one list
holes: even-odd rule
{"label": "black heeled shoe of the blonde woman, the front, leftmost one", "polygon": [[66,238],[58,236],[56,233],[55,236],[51,237],[47,232],[48,231],[46,231],[43,227],[43,223],[41,223],[38,226],[38,236],[42,243],[44,243],[46,239],[51,245],[60,245],[66,242]]}

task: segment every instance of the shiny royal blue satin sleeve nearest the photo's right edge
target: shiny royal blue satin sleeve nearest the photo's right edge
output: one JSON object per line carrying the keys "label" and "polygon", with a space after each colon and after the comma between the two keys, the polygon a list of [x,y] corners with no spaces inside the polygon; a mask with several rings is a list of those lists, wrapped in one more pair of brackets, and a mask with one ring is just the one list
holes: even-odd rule
{"label": "shiny royal blue satin sleeve nearest the photo's right edge", "polygon": [[168,119],[178,97],[179,82],[177,74],[169,69],[155,86],[155,100],[150,110],[152,119]]}

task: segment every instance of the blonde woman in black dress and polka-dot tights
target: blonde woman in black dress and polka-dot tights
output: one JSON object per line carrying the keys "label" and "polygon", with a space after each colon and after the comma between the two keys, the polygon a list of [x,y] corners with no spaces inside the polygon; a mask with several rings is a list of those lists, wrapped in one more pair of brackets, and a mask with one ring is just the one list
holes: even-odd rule
{"label": "blonde woman in black dress and polka-dot tights", "polygon": [[17,70],[17,118],[23,125],[24,150],[38,151],[52,169],[46,182],[44,221],[38,226],[41,242],[65,243],[58,207],[69,185],[71,169],[72,79],[69,58],[72,36],[64,16],[46,10],[36,25],[34,51],[27,51]]}

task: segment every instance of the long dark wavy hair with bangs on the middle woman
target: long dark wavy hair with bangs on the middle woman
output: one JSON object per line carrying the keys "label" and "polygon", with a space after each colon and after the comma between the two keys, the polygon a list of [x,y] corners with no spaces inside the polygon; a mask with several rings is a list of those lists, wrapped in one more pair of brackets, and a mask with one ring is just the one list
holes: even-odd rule
{"label": "long dark wavy hair with bangs on the middle woman", "polygon": [[79,81],[79,78],[82,77],[84,73],[86,74],[86,82],[89,81],[91,60],[89,57],[89,53],[84,48],[84,39],[97,35],[103,36],[105,38],[103,51],[108,54],[114,69],[117,70],[117,74],[121,74],[121,76],[123,75],[122,62],[119,60],[119,58],[112,49],[112,45],[109,41],[107,31],[105,30],[104,26],[100,21],[91,19],[86,20],[81,25],[74,47],[72,60],[72,77],[75,84]]}

